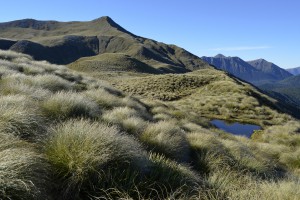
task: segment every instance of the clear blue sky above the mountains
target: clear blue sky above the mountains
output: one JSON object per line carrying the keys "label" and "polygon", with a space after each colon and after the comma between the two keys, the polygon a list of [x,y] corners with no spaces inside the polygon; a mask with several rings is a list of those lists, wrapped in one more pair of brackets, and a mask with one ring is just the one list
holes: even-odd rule
{"label": "clear blue sky above the mountains", "polygon": [[101,16],[198,56],[222,53],[300,66],[300,0],[5,0],[0,7],[0,22]]}

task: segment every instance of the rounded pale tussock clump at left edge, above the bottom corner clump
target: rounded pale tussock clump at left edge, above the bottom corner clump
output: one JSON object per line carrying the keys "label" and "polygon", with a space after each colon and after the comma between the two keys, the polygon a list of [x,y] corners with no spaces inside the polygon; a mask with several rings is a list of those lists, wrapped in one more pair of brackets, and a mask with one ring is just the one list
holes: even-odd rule
{"label": "rounded pale tussock clump at left edge, above the bottom corner clump", "polygon": [[0,131],[32,138],[41,136],[44,126],[44,118],[29,98],[21,95],[0,97]]}

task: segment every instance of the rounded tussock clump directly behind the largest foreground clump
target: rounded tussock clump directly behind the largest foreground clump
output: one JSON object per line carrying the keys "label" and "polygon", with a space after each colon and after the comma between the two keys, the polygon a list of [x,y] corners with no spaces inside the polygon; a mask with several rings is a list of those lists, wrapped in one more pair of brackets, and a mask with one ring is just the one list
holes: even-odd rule
{"label": "rounded tussock clump directly behind the largest foreground clump", "polygon": [[101,112],[98,105],[87,97],[73,92],[58,92],[42,103],[44,114],[52,119],[70,117],[97,118]]}

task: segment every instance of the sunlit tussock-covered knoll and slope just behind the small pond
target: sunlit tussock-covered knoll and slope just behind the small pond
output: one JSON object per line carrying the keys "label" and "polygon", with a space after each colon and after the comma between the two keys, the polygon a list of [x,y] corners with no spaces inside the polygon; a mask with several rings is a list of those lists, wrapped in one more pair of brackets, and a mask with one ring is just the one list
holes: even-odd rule
{"label": "sunlit tussock-covered knoll and slope just behind the small pond", "polygon": [[259,124],[281,124],[290,117],[276,100],[250,84],[213,68],[186,74],[146,76],[116,80],[114,85],[130,94],[171,101],[184,112],[209,119]]}

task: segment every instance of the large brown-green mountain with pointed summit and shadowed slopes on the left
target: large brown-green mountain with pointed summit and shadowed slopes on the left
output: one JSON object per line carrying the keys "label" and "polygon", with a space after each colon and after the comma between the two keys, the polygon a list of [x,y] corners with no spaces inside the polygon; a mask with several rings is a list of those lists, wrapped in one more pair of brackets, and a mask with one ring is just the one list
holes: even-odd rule
{"label": "large brown-green mountain with pointed summit and shadowed slopes on the left", "polygon": [[104,53],[120,53],[160,72],[179,73],[208,67],[190,52],[136,36],[110,17],[87,22],[24,19],[0,23],[0,49],[26,53],[36,60],[55,64],[70,64],[82,57]]}

